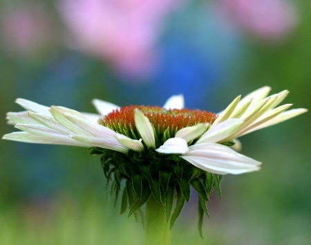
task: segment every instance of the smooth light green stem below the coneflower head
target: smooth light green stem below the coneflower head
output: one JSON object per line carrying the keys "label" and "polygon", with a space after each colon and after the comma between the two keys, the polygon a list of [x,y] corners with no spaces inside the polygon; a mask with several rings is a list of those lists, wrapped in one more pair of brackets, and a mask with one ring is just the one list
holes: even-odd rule
{"label": "smooth light green stem below the coneflower head", "polygon": [[171,243],[171,230],[165,218],[164,206],[151,195],[146,210],[146,245],[169,245]]}

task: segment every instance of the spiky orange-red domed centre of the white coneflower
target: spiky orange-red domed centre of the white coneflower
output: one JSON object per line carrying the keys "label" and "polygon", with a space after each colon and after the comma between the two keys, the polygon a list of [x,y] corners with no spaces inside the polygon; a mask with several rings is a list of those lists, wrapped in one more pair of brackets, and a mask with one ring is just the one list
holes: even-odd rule
{"label": "spiky orange-red domed centre of the white coneflower", "polygon": [[198,123],[213,123],[217,117],[216,114],[208,111],[190,109],[166,110],[162,107],[132,105],[112,111],[100,120],[100,124],[129,138],[139,139],[134,120],[135,108],[140,109],[144,116],[147,116],[158,138],[162,138],[164,134],[166,134],[167,138],[172,138],[183,127],[194,126]]}

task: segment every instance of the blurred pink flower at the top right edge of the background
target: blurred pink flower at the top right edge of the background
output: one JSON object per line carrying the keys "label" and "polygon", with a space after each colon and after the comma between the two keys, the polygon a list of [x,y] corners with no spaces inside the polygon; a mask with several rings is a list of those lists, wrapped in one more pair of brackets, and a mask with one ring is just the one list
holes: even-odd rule
{"label": "blurred pink flower at the top right edge of the background", "polygon": [[220,0],[220,11],[263,39],[279,39],[296,24],[294,6],[286,0]]}

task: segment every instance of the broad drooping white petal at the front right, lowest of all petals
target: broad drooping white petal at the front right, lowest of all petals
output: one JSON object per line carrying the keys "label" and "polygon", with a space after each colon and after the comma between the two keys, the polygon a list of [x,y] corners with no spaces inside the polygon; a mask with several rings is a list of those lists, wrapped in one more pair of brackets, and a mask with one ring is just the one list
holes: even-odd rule
{"label": "broad drooping white petal at the front right, lowest of all petals", "polygon": [[189,147],[184,158],[196,167],[214,174],[243,174],[260,169],[260,162],[235,152],[230,147],[205,143]]}

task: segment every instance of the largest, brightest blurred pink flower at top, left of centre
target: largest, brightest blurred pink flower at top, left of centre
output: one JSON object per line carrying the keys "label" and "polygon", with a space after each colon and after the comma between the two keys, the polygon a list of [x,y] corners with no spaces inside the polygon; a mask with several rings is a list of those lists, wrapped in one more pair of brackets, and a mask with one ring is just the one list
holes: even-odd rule
{"label": "largest, brightest blurred pink flower at top, left of centre", "polygon": [[180,0],[62,0],[70,46],[130,75],[149,73],[163,19]]}

